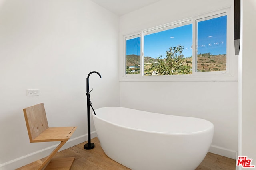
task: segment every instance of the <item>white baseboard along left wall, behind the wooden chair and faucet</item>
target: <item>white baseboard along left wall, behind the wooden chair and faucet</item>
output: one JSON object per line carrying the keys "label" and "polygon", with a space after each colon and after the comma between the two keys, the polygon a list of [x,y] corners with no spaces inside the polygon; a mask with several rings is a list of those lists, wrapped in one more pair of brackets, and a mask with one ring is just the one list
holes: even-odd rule
{"label": "white baseboard along left wall, behind the wooden chair and faucet", "polygon": [[[91,133],[91,138],[94,138],[94,137],[97,137],[96,131],[93,131]],[[87,134],[68,140],[59,151],[73,147],[75,145],[78,145],[79,143],[83,143],[84,141],[88,141]],[[20,168],[26,164],[30,164],[31,162],[34,162],[36,160],[42,159],[42,158],[48,156],[50,154],[50,152],[52,152],[52,150],[57,147],[57,145],[58,144],[52,145],[51,147],[48,147],[48,148],[45,148],[42,150],[38,150],[36,152],[27,154],[20,158],[16,158],[14,160],[10,160],[8,162],[0,164],[0,170],[14,170],[14,169]]]}

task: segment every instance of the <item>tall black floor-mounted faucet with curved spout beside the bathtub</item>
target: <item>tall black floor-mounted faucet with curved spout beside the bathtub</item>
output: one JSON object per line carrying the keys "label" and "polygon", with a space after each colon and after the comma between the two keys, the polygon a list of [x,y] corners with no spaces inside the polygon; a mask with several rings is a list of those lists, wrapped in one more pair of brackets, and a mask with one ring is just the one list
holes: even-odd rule
{"label": "tall black floor-mounted faucet with curved spout beside the bathtub", "polygon": [[[92,102],[90,100],[90,91],[89,90],[89,76],[92,74],[92,73],[97,73],[100,78],[101,78],[101,75],[100,73],[96,72],[96,71],[92,71],[88,74],[87,78],[86,78],[86,96],[87,96],[87,127],[88,127],[88,143],[86,143],[84,145],[84,149],[93,149],[94,148],[94,143],[91,143],[91,123],[90,123],[90,106],[92,107]],[[95,111],[92,107],[92,110],[95,114]],[[95,114],[96,115],[96,114]]]}

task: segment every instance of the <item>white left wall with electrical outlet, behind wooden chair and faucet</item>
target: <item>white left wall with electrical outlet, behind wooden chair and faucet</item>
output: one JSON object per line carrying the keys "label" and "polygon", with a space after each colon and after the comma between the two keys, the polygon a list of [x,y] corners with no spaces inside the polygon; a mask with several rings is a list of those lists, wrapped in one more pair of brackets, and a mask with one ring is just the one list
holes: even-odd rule
{"label": "white left wall with electrical outlet, behind wooden chair and faucet", "polygon": [[87,140],[89,72],[102,75],[90,76],[94,108],[119,106],[118,23],[90,0],[1,0],[0,169],[43,158],[56,144],[29,143],[25,107],[44,102],[50,127],[78,126],[67,145]]}

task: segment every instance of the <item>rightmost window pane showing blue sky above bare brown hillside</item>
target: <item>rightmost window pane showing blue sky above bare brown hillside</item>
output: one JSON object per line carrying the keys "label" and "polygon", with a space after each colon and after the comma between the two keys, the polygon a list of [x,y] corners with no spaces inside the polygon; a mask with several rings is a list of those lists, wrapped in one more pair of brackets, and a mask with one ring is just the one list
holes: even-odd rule
{"label": "rightmost window pane showing blue sky above bare brown hillside", "polygon": [[225,71],[227,16],[197,20],[197,71]]}

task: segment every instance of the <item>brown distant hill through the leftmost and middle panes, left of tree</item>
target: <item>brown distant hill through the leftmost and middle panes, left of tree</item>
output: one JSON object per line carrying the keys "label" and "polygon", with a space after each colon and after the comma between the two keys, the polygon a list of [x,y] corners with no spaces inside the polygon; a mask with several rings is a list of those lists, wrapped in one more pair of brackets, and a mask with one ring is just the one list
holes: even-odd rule
{"label": "brown distant hill through the leftmost and middle panes, left of tree", "polygon": [[[156,59],[152,57],[144,57],[144,63],[152,63],[157,61]],[[138,66],[140,64],[140,56],[131,54],[126,55],[126,66]]]}

